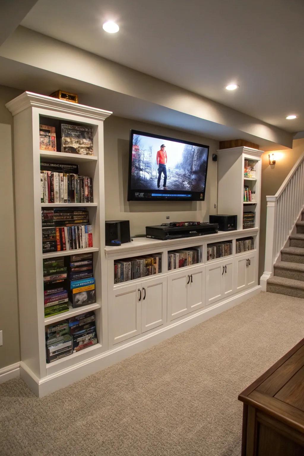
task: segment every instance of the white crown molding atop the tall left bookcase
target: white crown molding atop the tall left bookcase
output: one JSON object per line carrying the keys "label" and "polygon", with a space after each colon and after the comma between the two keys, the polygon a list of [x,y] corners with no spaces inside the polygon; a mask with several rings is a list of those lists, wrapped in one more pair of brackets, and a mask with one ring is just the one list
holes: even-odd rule
{"label": "white crown molding atop the tall left bookcase", "polygon": [[5,104],[12,115],[19,114],[27,108],[51,109],[57,112],[79,115],[95,120],[105,120],[112,114],[111,111],[92,108],[84,104],[76,104],[59,98],[47,97],[33,92],[23,92],[18,97]]}

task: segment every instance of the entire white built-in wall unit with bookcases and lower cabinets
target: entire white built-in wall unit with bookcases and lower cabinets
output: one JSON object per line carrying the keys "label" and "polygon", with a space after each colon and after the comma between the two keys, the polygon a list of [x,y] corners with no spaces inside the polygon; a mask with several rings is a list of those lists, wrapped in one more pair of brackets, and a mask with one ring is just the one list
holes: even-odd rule
{"label": "entire white built-in wall unit with bookcases and lower cabinets", "polygon": [[[51,393],[117,363],[260,291],[258,236],[262,151],[246,147],[218,151],[218,213],[236,214],[237,230],[166,241],[134,238],[120,246],[106,247],[103,121],[111,113],[30,92],[21,94],[6,106],[14,116],[20,371],[35,394]],[[45,119],[59,119],[90,125],[93,155],[40,150],[41,118],[43,124],[46,124]],[[251,161],[254,178],[244,176],[245,160]],[[41,161],[79,165],[79,175],[93,179],[93,202],[41,203]],[[255,192],[256,202],[243,202],[245,185]],[[147,210],[148,205],[149,202]],[[68,206],[88,210],[93,247],[42,254],[41,210]],[[255,214],[254,227],[242,229],[243,212],[247,211]],[[177,258],[175,254],[183,255],[181,251],[185,249],[196,250],[196,262],[191,264],[194,257],[190,254],[189,263],[187,257],[187,264],[180,265],[179,260],[185,257]],[[96,303],[78,308],[69,306],[64,313],[45,317],[43,259],[84,252],[93,253]],[[135,274],[132,275],[131,280],[128,270],[127,280],[118,283],[116,264],[153,254],[161,261],[157,274],[146,274],[146,271],[140,278],[134,279]],[[87,311],[95,313],[98,343],[47,364],[46,326]]]}

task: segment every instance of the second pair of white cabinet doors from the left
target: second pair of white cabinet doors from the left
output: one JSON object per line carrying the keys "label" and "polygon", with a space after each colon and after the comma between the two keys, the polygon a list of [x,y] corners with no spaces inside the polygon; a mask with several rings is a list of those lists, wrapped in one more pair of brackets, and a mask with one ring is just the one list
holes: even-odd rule
{"label": "second pair of white cabinet doors from the left", "polygon": [[168,321],[204,306],[205,266],[181,269],[168,275]]}

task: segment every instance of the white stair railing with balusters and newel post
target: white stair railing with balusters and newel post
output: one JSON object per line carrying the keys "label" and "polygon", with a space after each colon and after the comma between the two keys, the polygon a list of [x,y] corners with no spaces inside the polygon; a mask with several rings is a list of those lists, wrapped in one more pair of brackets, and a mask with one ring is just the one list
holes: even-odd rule
{"label": "white stair railing with balusters and newel post", "polygon": [[304,153],[273,196],[267,196],[265,266],[260,283],[266,291],[273,264],[286,244],[304,206]]}

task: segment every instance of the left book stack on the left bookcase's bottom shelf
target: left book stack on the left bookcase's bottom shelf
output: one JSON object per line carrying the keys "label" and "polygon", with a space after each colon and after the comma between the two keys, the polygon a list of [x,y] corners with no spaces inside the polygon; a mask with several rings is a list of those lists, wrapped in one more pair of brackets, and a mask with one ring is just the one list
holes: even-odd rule
{"label": "left book stack on the left bookcase's bottom shelf", "polygon": [[46,363],[64,358],[72,352],[72,336],[66,320],[46,327]]}

